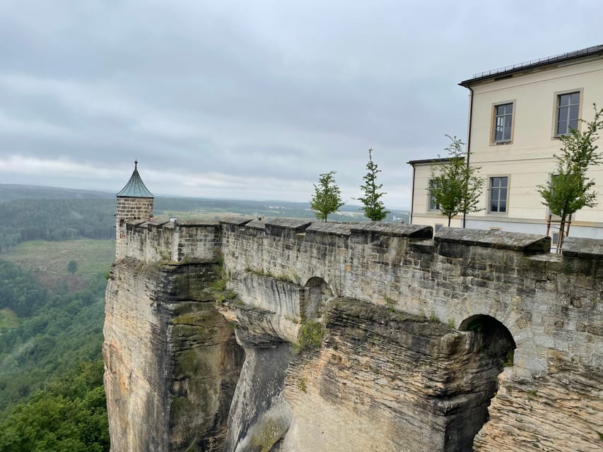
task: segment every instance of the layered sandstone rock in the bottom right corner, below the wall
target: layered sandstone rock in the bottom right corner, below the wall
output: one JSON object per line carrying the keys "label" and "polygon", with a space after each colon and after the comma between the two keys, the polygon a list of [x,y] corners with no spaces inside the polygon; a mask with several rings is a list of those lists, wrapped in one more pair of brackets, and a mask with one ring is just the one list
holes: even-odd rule
{"label": "layered sandstone rock in the bottom right corner, below the wall", "polygon": [[477,434],[475,451],[603,451],[602,372],[551,361],[554,373],[534,380],[512,371],[499,377],[491,422]]}

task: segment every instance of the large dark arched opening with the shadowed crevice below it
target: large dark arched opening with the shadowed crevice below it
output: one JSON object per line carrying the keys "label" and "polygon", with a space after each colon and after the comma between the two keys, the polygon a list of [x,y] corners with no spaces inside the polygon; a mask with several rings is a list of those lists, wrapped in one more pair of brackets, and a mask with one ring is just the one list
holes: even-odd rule
{"label": "large dark arched opening with the shadowed crevice below it", "polygon": [[508,328],[492,316],[477,314],[462,321],[459,331],[471,331],[472,350],[465,364],[467,406],[451,426],[452,434],[464,444],[459,450],[472,450],[474,436],[488,422],[488,406],[498,391],[498,375],[513,366],[515,340]]}

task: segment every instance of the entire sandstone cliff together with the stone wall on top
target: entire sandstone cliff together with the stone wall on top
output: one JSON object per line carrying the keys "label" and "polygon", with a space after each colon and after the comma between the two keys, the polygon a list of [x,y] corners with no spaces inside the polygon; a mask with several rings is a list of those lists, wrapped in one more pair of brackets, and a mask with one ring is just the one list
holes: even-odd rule
{"label": "entire sandstone cliff together with the stone wall on top", "polygon": [[[545,237],[291,220],[128,234],[139,260],[107,287],[114,451],[602,449],[600,242],[553,256]],[[236,297],[218,314],[213,267],[185,261],[220,255]],[[320,347],[297,350],[312,323]]]}

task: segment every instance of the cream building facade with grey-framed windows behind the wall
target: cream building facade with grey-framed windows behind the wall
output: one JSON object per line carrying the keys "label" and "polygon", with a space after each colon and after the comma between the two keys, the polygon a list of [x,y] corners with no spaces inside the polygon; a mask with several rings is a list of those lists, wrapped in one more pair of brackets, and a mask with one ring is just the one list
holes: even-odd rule
{"label": "cream building facade with grey-framed windows behind the wall", "polygon": [[[549,209],[537,186],[554,175],[560,136],[582,130],[603,107],[603,45],[508,66],[462,81],[469,90],[467,156],[485,179],[478,213],[451,226],[544,234]],[[599,146],[603,140],[599,139]],[[431,167],[445,160],[414,160],[411,222],[447,225],[429,196]],[[573,215],[570,234],[603,238],[603,167],[590,170],[598,206]],[[554,219],[555,220],[555,219]],[[551,229],[556,241],[556,229]]]}

